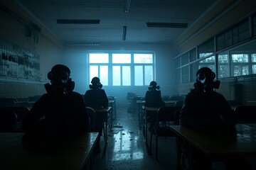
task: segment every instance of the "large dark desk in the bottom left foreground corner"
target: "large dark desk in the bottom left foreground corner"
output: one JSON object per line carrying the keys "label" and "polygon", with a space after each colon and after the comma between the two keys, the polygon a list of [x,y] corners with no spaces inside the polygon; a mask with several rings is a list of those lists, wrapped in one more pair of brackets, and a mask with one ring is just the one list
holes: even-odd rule
{"label": "large dark desk in the bottom left foreground corner", "polygon": [[32,140],[24,133],[0,133],[0,169],[93,169],[99,133]]}

